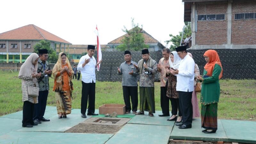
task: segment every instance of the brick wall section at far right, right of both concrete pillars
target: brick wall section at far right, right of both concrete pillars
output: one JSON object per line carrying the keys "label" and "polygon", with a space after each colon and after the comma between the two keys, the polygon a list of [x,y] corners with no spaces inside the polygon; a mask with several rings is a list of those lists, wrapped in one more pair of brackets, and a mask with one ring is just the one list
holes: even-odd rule
{"label": "brick wall section at far right, right of both concrete pillars", "polygon": [[235,13],[256,12],[255,0],[235,0],[232,3],[231,44],[256,44],[256,19],[235,20]]}

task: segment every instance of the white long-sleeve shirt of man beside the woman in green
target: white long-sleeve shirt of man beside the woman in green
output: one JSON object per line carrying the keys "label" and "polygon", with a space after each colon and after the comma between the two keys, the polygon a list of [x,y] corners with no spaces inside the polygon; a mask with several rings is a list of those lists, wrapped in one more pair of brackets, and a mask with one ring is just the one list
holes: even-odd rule
{"label": "white long-sleeve shirt of man beside the woman in green", "polygon": [[195,78],[195,61],[187,54],[178,68],[176,91],[193,92]]}

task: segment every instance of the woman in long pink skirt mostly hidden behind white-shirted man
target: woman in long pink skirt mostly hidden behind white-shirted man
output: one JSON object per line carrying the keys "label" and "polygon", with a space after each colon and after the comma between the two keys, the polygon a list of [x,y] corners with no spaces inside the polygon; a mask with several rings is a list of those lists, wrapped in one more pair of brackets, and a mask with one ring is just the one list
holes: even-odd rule
{"label": "woman in long pink skirt mostly hidden behind white-shirted man", "polygon": [[[193,58],[192,54],[190,52],[188,52],[188,55]],[[200,71],[199,68],[197,66],[197,64],[195,63],[195,79],[194,79],[194,90],[196,88],[196,83],[197,83],[197,79],[196,77],[200,75]],[[200,117],[200,113],[199,113],[199,107],[198,107],[198,100],[197,100],[197,96],[196,96],[196,92],[193,91],[192,93],[192,106],[193,106],[193,118],[195,117]]]}

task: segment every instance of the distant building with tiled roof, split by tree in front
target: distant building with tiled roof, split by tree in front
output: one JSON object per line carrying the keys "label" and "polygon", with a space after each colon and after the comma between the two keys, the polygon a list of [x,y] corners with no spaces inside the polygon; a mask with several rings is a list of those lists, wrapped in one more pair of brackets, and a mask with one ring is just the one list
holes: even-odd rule
{"label": "distant building with tiled roof, split by tree in front", "polygon": [[[131,31],[131,30],[132,29],[130,29],[129,31]],[[144,43],[149,45],[149,48],[148,48],[149,51],[158,51],[158,50],[162,50],[164,48],[163,44],[161,44],[159,41],[157,41],[153,36],[149,35],[142,28],[140,29],[140,33],[142,33],[142,36],[144,37]],[[120,44],[123,44],[122,40],[126,36],[128,36],[128,34],[120,36],[120,37],[114,39],[113,41],[109,42],[107,44],[108,49],[106,49],[106,51],[117,51],[116,47]]]}

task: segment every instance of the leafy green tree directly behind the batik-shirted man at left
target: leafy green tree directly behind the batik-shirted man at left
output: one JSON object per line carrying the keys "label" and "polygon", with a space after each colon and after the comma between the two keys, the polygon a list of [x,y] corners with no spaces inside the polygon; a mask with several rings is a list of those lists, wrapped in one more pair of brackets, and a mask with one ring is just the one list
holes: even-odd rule
{"label": "leafy green tree directly behind the batik-shirted man at left", "polygon": [[38,44],[34,46],[34,52],[38,53],[39,49],[47,49],[48,50],[48,61],[49,63],[56,63],[58,60],[58,55],[57,53],[51,48],[51,42],[41,40]]}

